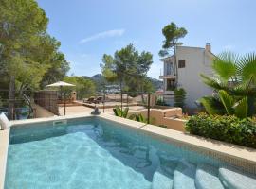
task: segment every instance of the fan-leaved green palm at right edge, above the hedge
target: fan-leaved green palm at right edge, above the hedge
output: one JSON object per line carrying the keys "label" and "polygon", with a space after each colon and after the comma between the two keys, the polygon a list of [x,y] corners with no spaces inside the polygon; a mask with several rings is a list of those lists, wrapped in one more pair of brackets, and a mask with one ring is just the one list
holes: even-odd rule
{"label": "fan-leaved green palm at right edge, above the hedge", "polygon": [[239,103],[245,106],[247,102],[247,106],[243,108],[247,108],[248,116],[253,115],[256,99],[256,54],[249,53],[240,57],[232,52],[223,52],[213,60],[212,69],[213,77],[201,75],[205,84],[216,92],[213,96],[201,99],[206,111],[210,114],[230,114],[226,106],[229,99],[233,109],[241,108]]}

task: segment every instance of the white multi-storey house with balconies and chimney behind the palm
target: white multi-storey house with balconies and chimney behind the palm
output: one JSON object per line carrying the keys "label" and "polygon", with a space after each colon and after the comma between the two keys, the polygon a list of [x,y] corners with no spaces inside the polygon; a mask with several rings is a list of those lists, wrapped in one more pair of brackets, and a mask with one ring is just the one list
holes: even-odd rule
{"label": "white multi-storey house with balconies and chimney behind the palm", "polygon": [[174,56],[161,59],[164,63],[163,79],[164,99],[169,105],[174,103],[174,85],[185,89],[186,106],[196,107],[195,101],[204,95],[212,94],[210,87],[205,85],[200,74],[212,76],[211,62],[214,55],[210,51],[210,43],[205,48],[177,46],[176,47],[177,67]]}

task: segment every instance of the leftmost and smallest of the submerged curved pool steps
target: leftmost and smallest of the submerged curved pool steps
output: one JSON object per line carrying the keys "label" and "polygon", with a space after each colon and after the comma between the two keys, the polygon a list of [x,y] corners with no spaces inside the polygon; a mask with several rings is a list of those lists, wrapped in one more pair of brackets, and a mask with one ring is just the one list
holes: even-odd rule
{"label": "leftmost and smallest of the submerged curved pool steps", "polygon": [[168,174],[159,166],[153,176],[152,189],[172,189],[173,175]]}

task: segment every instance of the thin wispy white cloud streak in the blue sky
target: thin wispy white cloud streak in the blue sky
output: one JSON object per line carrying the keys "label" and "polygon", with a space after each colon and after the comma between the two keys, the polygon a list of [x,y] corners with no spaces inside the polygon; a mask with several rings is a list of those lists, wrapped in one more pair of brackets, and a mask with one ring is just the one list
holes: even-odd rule
{"label": "thin wispy white cloud streak in the blue sky", "polygon": [[91,42],[91,41],[99,40],[103,38],[119,37],[119,36],[122,36],[124,32],[125,32],[125,29],[113,29],[113,30],[103,31],[101,33],[97,33],[82,39],[80,43],[87,43],[87,42]]}

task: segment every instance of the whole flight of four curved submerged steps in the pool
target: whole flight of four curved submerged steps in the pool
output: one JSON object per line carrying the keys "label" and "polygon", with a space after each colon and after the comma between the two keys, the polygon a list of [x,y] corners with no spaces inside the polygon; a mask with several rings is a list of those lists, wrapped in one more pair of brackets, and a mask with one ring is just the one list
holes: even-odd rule
{"label": "whole flight of four curved submerged steps in the pool", "polygon": [[179,162],[173,171],[159,166],[152,189],[256,189],[256,176],[233,167]]}

